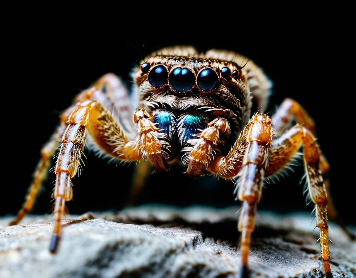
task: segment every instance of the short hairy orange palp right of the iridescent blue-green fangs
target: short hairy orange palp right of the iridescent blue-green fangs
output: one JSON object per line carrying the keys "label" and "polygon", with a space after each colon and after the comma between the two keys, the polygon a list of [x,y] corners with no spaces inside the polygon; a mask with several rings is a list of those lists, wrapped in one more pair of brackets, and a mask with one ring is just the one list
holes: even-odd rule
{"label": "short hairy orange palp right of the iridescent blue-green fangs", "polygon": [[209,168],[215,155],[215,148],[225,142],[230,136],[230,125],[224,118],[216,118],[208,123],[205,130],[194,136],[199,139],[188,140],[189,147],[182,149],[185,152],[183,163],[186,165],[186,173],[191,177],[201,175],[203,170]]}

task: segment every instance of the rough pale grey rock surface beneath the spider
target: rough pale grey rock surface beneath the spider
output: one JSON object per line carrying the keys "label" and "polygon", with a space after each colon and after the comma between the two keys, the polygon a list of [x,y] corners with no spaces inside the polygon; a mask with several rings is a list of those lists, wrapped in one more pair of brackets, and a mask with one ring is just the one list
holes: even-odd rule
{"label": "rough pale grey rock surface beneath the spider", "polygon": [[[51,216],[27,217],[27,224],[11,227],[10,218],[0,218],[0,277],[238,277],[236,211],[142,206],[69,216],[78,219],[63,221],[55,255],[48,251]],[[311,221],[308,214],[260,213],[250,276],[323,277]],[[331,226],[334,277],[355,277],[356,243]]]}

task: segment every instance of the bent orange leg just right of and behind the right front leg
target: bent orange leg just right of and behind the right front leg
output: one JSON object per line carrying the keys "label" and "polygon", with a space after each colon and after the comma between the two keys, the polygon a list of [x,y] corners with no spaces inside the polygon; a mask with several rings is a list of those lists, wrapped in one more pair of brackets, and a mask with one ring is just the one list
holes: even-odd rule
{"label": "bent orange leg just right of and behind the right front leg", "polygon": [[329,263],[328,198],[323,173],[320,169],[320,151],[313,133],[302,126],[295,125],[284,132],[282,136],[276,138],[269,149],[269,168],[266,169],[266,175],[273,175],[281,170],[302,144],[309,195],[316,206],[316,226],[320,230],[321,256],[323,258],[324,271],[326,277],[331,278],[333,274],[330,271]]}

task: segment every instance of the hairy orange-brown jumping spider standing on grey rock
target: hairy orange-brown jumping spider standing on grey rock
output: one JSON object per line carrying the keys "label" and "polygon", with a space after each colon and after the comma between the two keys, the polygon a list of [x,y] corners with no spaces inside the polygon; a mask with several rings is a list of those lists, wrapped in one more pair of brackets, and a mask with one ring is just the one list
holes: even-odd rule
{"label": "hairy orange-brown jumping spider standing on grey rock", "polygon": [[[263,181],[287,167],[303,146],[324,271],[327,278],[333,277],[327,181],[323,178],[329,166],[316,144],[314,122],[299,103],[286,98],[272,117],[263,114],[271,82],[251,60],[225,50],[199,54],[188,46],[163,48],[137,68],[134,83],[137,109],[133,120],[126,89],[111,73],[78,94],[42,148],[26,202],[12,225],[31,210],[59,145],[51,252],[58,246],[65,203],[73,197],[71,179],[85,146],[124,162],[148,160],[157,172],[169,170],[169,163],[179,160],[191,178],[209,174],[236,181],[234,194],[242,202],[237,225],[241,232],[240,276],[247,277]],[[290,127],[293,118],[297,124]]]}

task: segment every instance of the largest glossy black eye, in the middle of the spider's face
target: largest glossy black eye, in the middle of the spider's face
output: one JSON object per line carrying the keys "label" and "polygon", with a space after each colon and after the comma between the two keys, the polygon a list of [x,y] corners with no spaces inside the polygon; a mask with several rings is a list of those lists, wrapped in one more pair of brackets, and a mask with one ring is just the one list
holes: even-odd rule
{"label": "largest glossy black eye, in the middle of the spider's face", "polygon": [[177,67],[169,75],[169,86],[177,92],[189,91],[195,83],[195,76],[191,70]]}

